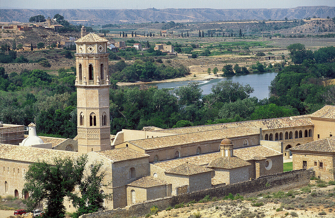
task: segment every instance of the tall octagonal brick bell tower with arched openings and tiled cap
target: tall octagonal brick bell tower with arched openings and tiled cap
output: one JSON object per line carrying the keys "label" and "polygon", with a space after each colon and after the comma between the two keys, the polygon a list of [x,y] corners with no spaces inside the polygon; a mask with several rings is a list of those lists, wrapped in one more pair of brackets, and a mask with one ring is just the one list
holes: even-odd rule
{"label": "tall octagonal brick bell tower with arched openings and tiled cap", "polygon": [[108,40],[88,33],[75,42],[78,152],[111,149]]}

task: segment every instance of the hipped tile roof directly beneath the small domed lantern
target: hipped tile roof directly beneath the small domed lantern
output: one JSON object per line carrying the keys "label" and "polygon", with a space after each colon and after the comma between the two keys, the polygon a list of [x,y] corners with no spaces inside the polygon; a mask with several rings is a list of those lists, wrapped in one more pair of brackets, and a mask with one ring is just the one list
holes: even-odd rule
{"label": "hipped tile roof directly beneath the small domed lantern", "polygon": [[218,157],[210,162],[207,167],[223,168],[223,169],[233,169],[238,167],[249,166],[251,163],[237,157]]}

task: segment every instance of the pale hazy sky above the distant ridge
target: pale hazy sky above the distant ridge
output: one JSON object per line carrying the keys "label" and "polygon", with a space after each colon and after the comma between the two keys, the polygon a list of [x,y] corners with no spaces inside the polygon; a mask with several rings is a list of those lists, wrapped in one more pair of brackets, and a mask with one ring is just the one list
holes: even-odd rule
{"label": "pale hazy sky above the distant ridge", "polygon": [[144,9],[144,8],[293,8],[335,6],[335,0],[0,0],[0,8]]}

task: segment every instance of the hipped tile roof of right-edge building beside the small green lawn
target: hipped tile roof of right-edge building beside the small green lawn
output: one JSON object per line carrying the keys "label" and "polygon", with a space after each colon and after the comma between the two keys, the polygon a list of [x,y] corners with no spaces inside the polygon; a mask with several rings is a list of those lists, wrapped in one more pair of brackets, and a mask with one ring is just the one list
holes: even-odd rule
{"label": "hipped tile roof of right-edge building beside the small green lawn", "polygon": [[335,152],[335,136],[298,145],[290,150],[294,153],[296,151]]}

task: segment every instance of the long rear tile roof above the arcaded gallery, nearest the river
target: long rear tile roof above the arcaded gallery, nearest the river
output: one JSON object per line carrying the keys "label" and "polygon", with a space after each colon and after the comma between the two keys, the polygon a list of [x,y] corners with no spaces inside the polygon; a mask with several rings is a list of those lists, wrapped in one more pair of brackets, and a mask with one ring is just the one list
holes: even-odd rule
{"label": "long rear tile roof above the arcaded gallery, nearest the river", "polygon": [[251,120],[251,121],[242,121],[242,122],[234,122],[234,123],[221,123],[221,124],[212,124],[212,125],[203,125],[203,126],[190,126],[190,127],[181,127],[174,129],[163,129],[156,130],[155,132],[166,132],[166,133],[191,133],[191,132],[201,132],[201,131],[209,131],[215,129],[224,129],[238,126],[245,127],[256,127],[262,128],[263,130],[268,129],[281,129],[281,128],[290,128],[290,127],[299,127],[299,126],[312,126],[314,125],[308,119],[296,119],[292,120],[289,117],[282,118],[273,118],[273,119],[265,119],[265,120]]}

